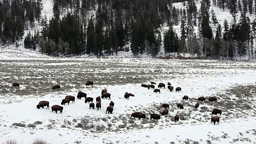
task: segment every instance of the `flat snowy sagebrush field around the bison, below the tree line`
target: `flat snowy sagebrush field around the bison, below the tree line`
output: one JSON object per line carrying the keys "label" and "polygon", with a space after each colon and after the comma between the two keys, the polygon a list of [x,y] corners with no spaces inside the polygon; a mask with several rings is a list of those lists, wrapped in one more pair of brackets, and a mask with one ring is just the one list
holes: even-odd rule
{"label": "flat snowy sagebrush field around the bison, below the tree line", "polygon": [[[36,54],[35,54],[36,55]],[[50,144],[249,144],[256,141],[256,64],[210,60],[44,58],[0,60],[0,141],[16,139],[30,144],[36,138]],[[22,58],[21,58],[22,59]],[[85,86],[87,80],[93,86]],[[141,84],[170,82],[182,92],[160,88],[155,94]],[[12,88],[20,82],[20,88]],[[60,84],[60,90],[51,90]],[[157,87],[157,85],[155,85]],[[102,100],[102,109],[89,109],[84,98],[65,105],[63,114],[46,108],[38,110],[41,100],[61,105],[65,96],[76,96],[78,90],[87,97],[101,95],[107,88],[115,103],[113,114],[106,114],[111,100]],[[134,97],[124,98],[130,92]],[[182,100],[184,95],[188,101]],[[218,102],[199,102],[200,96],[216,96]],[[167,116],[160,114],[161,104],[170,104]],[[177,109],[176,104],[184,109]],[[220,124],[213,125],[213,108],[222,110]],[[132,112],[143,112],[146,119],[134,121]],[[180,120],[173,121],[179,114]]]}

